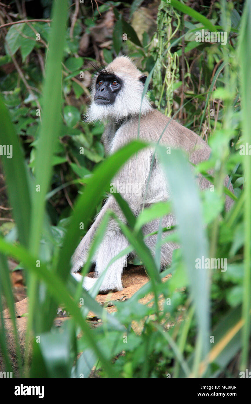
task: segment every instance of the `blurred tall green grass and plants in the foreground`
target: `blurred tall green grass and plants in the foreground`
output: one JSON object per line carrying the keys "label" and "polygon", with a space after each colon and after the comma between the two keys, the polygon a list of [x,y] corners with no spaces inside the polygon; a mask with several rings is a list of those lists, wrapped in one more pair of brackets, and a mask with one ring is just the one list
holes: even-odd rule
{"label": "blurred tall green grass and plants in the foreground", "polygon": [[[46,196],[50,189],[52,158],[61,127],[61,61],[64,48],[67,4],[66,0],[54,2],[53,25],[43,87],[42,123],[35,156],[34,175],[31,175],[25,164],[23,151],[11,124],[10,116],[2,99],[0,99],[0,141],[2,144],[9,144],[13,147],[12,159],[7,159],[3,156],[2,163],[19,238],[19,244],[11,244],[4,238],[0,238],[0,291],[6,298],[13,322],[19,364],[18,374],[26,377],[79,377],[80,374],[88,376],[92,366],[95,364],[97,367],[101,367],[104,375],[108,377],[134,377],[134,371],[138,368],[141,370],[137,370],[139,372],[137,374],[140,377],[145,377],[148,376],[148,370],[150,373],[152,366],[149,357],[158,357],[156,355],[156,352],[159,352],[158,343],[163,346],[162,356],[164,356],[166,364],[169,363],[170,352],[172,357],[175,358],[174,375],[176,377],[203,377],[209,375],[216,377],[220,371],[226,368],[239,349],[242,350],[241,369],[246,369],[248,366],[250,337],[250,156],[245,156],[244,158],[246,180],[244,196],[239,198],[231,212],[224,217],[224,226],[233,231],[236,220],[241,216],[241,206],[244,198],[245,276],[243,278],[242,309],[241,305],[231,309],[230,312],[218,320],[213,329],[212,318],[210,317],[210,278],[212,274],[203,269],[196,269],[195,259],[208,256],[210,243],[213,243],[214,253],[216,253],[218,222],[219,218],[222,219],[222,215],[221,210],[219,210],[218,214],[213,215],[216,238],[213,241],[208,240],[204,226],[207,220],[203,216],[201,195],[189,168],[187,157],[181,151],[172,150],[171,154],[167,155],[166,149],[160,145],[154,145],[158,158],[162,162],[163,169],[169,179],[169,186],[173,196],[172,210],[178,221],[177,234],[170,235],[167,232],[169,240],[178,238],[181,246],[181,255],[177,251],[174,253],[171,268],[166,269],[162,274],[158,273],[158,263],[145,245],[141,232],[141,227],[145,222],[162,217],[170,211],[169,203],[146,208],[138,218],[135,218],[128,204],[117,195],[117,202],[127,218],[127,224],[121,223],[116,215],[109,212],[89,252],[89,259],[83,268],[83,273],[88,271],[91,256],[93,256],[98,242],[102,239],[108,220],[112,216],[129,239],[131,243],[129,249],[137,252],[147,269],[150,277],[149,282],[138,290],[131,299],[116,304],[116,313],[109,315],[97,304],[95,294],[98,290],[94,290],[89,294],[71,279],[69,276],[70,259],[81,236],[79,223],[83,222],[84,227],[87,227],[95,206],[102,200],[104,193],[109,190],[110,181],[116,172],[133,154],[147,147],[147,144],[140,142],[140,140],[134,141],[107,158],[94,170],[90,181],[83,190],[83,194],[79,196],[75,203],[74,213],[71,216],[62,246],[58,246],[55,242],[50,262],[47,262],[42,254],[41,236],[49,233],[53,240],[46,213]],[[205,19],[205,17],[202,18],[191,8],[178,1],[174,2],[174,0],[173,6],[197,19],[204,27],[214,30],[214,26],[209,20]],[[223,3],[222,10],[224,10],[225,6]],[[251,88],[249,74],[251,60],[250,17],[251,1],[247,1],[242,17],[239,61],[242,80],[243,133],[245,134],[245,141],[249,144],[251,143],[251,118],[249,112],[251,107],[249,91]],[[227,62],[224,61],[224,63]],[[223,65],[219,67],[219,69],[222,68]],[[227,73],[231,78],[231,72]],[[217,80],[217,77],[216,74],[215,80]],[[232,100],[230,100],[230,104],[231,102]],[[226,119],[228,119],[228,114],[226,114]],[[227,133],[225,135],[226,140],[229,140],[230,135]],[[212,148],[214,154],[217,150],[217,145],[213,145]],[[242,162],[241,156],[238,156],[238,161]],[[219,181],[218,185],[226,165],[227,155],[224,155],[220,161],[220,170],[222,171],[219,170],[218,177],[216,175],[216,179]],[[203,171],[204,167],[201,166],[200,169]],[[217,183],[215,185],[217,188]],[[224,193],[222,187],[219,187],[219,193],[220,197],[222,197]],[[221,202],[222,209],[223,205],[223,202]],[[160,245],[158,248],[160,248]],[[21,357],[17,333],[14,300],[6,260],[8,256],[12,256],[21,262],[27,274],[29,313],[24,361]],[[168,282],[162,282],[162,278],[170,272],[172,273],[172,278]],[[180,290],[184,288],[189,291],[184,305],[185,321],[182,324],[177,322],[174,328],[167,331],[167,327],[165,327],[168,323],[166,315],[169,309],[173,313],[178,305],[177,302],[182,301]],[[139,299],[149,292],[153,292],[154,304],[151,307],[149,305],[142,306]],[[159,299],[163,296],[165,299],[171,296],[172,304],[170,307],[165,306],[160,309]],[[84,299],[83,309],[78,307],[80,298]],[[56,315],[56,307],[62,304],[71,314],[71,320],[65,322],[59,332],[53,328],[53,320]],[[102,318],[103,325],[98,330],[91,330],[87,325],[85,318],[88,311],[92,311]],[[154,321],[151,321],[152,317],[154,317]],[[144,322],[144,329],[140,335],[135,334],[131,328],[133,320],[137,322],[142,320]],[[165,326],[163,326],[163,322]],[[243,337],[241,340],[240,332],[242,328]],[[196,333],[193,340],[189,335],[189,330],[191,329],[195,330]],[[80,330],[82,335],[80,339],[77,339]],[[128,345],[122,343],[125,334],[128,336]],[[214,336],[214,345],[210,348],[210,337],[212,335]],[[36,342],[35,337],[37,336],[40,337],[40,343]],[[185,352],[185,348],[188,343],[191,344],[191,341],[193,341],[193,349],[189,356],[187,351]],[[12,364],[8,357],[8,341],[2,316],[0,345],[6,370],[11,371]],[[31,356],[29,356],[30,345],[33,347]],[[121,358],[121,361],[113,362],[112,359],[123,350],[127,351],[125,362],[121,364]],[[82,354],[77,359],[79,352],[82,352]],[[209,366],[211,364],[214,364],[214,366]]]}

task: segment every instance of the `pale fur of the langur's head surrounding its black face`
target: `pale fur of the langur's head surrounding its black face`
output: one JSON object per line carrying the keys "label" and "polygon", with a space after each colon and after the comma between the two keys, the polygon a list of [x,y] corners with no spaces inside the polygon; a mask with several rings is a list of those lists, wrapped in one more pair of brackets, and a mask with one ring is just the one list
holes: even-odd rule
{"label": "pale fur of the langur's head surrounding its black face", "polygon": [[[94,103],[95,82],[99,74],[114,74],[121,79],[122,89],[111,105],[97,105]],[[147,76],[137,69],[135,63],[127,56],[118,56],[105,67],[95,72],[92,91],[91,105],[87,111],[87,121],[113,121],[120,122],[126,118],[147,114],[151,105],[147,94],[143,95],[144,84]]]}

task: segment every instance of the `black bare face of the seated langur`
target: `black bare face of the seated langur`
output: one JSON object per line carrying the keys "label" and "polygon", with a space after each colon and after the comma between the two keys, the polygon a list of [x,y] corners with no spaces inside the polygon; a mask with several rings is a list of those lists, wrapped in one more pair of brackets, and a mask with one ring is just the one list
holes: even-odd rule
{"label": "black bare face of the seated langur", "polygon": [[112,105],[123,86],[121,78],[115,74],[99,74],[95,85],[95,104]]}

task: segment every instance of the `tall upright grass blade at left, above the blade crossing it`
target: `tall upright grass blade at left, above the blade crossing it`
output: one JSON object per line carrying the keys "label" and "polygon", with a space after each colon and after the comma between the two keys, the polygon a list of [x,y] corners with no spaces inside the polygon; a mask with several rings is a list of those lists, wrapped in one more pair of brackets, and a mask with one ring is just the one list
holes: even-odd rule
{"label": "tall upright grass blade at left, above the blade crossing it", "polygon": [[62,57],[64,50],[67,0],[54,1],[52,12],[52,31],[49,39],[49,52],[46,66],[46,78],[43,90],[42,124],[35,159],[36,184],[40,191],[33,189],[33,205],[31,211],[30,248],[36,254],[44,219],[46,193],[50,185],[52,173],[52,157],[61,127],[62,103]]}

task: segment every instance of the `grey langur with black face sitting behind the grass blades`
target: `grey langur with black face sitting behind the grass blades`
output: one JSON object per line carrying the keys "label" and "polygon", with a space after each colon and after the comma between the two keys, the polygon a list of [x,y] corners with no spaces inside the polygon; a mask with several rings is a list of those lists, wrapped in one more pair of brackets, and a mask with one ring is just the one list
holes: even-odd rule
{"label": "grey langur with black face sitting behind the grass blades", "polygon": [[[197,164],[207,160],[211,149],[195,132],[178,124],[174,120],[153,109],[147,95],[142,99],[142,93],[146,76],[143,76],[135,64],[125,56],[117,57],[95,76],[91,93],[91,106],[87,112],[87,120],[106,121],[106,128],[102,135],[106,154],[112,154],[123,145],[138,138],[139,114],[140,129],[139,137],[143,141],[156,143],[164,131],[160,143],[173,148],[181,148],[189,155],[189,161]],[[141,105],[142,102],[142,105]],[[166,201],[169,198],[166,177],[158,158],[154,158],[150,173],[153,150],[144,149],[133,156],[117,173],[113,179],[115,184],[136,184],[135,187],[119,187],[120,194],[124,198],[134,215],[139,215],[144,206],[150,206],[155,202]],[[228,185],[226,177],[224,185]],[[148,182],[148,184],[147,184]],[[208,188],[210,182],[199,176],[201,189]],[[126,189],[127,188],[127,189]],[[137,188],[137,189],[136,189]],[[121,191],[122,189],[122,191]],[[233,192],[232,185],[229,185]],[[228,210],[232,200],[226,197],[226,209]],[[97,281],[97,277],[106,269],[110,260],[118,255],[124,248],[129,246],[114,219],[110,219],[104,238],[97,248],[93,262],[95,263],[96,278],[84,277],[77,272],[85,264],[88,251],[106,211],[112,210],[123,222],[124,215],[120,210],[115,198],[110,194],[93,225],[79,243],[72,257],[73,267],[71,274],[75,279],[83,281],[83,287],[89,290]],[[151,221],[143,226],[143,234],[147,235],[159,228],[159,220]],[[175,225],[172,214],[162,220],[162,226]],[[188,230],[189,231],[189,230]],[[145,239],[145,243],[154,253],[157,236],[152,235]],[[161,249],[161,266],[171,264],[172,251],[177,248],[174,243],[166,243]],[[100,291],[122,290],[122,271],[127,266],[127,256],[118,258],[108,267],[104,276]]]}

